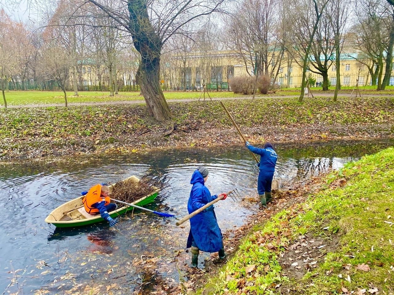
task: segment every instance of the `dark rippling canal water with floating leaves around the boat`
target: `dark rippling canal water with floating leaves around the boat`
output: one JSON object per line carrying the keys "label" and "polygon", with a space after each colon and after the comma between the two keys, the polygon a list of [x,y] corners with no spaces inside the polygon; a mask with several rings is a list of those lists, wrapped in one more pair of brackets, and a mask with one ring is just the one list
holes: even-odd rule
{"label": "dark rippling canal water with floating leaves around the boat", "polygon": [[[276,177],[282,186],[288,186],[393,145],[394,140],[374,140],[277,146]],[[176,219],[138,212],[121,218],[115,231],[108,230],[107,223],[59,230],[44,219],[93,184],[113,183],[148,171],[165,188],[156,203],[147,207],[170,211],[180,218],[187,214],[190,177],[197,164],[208,167],[206,185],[212,194],[234,188],[241,195],[256,194],[258,168],[241,146],[80,157],[67,164],[13,162],[0,167],[0,291],[89,293],[98,288],[93,294],[110,289],[146,293],[155,285],[178,282],[178,269],[190,262],[190,254],[184,252],[188,223],[176,227]],[[217,203],[215,209],[222,232],[242,225],[254,210],[257,206],[245,208],[229,198]],[[208,256],[203,254],[200,260],[204,255]]]}

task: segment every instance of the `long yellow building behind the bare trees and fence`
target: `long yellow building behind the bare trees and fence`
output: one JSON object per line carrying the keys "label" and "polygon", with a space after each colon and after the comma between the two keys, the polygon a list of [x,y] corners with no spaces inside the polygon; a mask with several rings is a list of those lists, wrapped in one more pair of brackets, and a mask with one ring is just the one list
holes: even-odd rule
{"label": "long yellow building behind the bare trees and fence", "polygon": [[[272,53],[274,54],[274,53]],[[340,83],[341,87],[354,87],[371,85],[371,76],[368,68],[358,62],[357,53],[341,53],[340,56]],[[268,60],[272,59],[269,57]],[[302,68],[294,59],[284,55],[280,65],[271,64],[268,72],[272,81],[282,89],[296,89],[301,87]],[[312,71],[317,71],[309,64],[307,77],[314,80],[310,87],[322,87],[323,77]],[[84,65],[82,80],[85,89],[104,90],[108,88],[108,70],[104,66],[94,63]],[[138,90],[136,85],[136,71],[138,61],[117,66],[117,86],[119,90]],[[278,71],[279,68],[279,71]],[[187,52],[184,55],[167,55],[161,59],[160,82],[163,90],[202,90],[206,85],[208,90],[229,90],[229,80],[236,76],[253,76],[254,65],[245,62],[239,53],[234,50],[219,52]],[[328,70],[329,87],[334,88],[336,81],[336,65],[334,62]],[[394,85],[394,74],[390,79]],[[99,89],[99,87],[101,89]]]}

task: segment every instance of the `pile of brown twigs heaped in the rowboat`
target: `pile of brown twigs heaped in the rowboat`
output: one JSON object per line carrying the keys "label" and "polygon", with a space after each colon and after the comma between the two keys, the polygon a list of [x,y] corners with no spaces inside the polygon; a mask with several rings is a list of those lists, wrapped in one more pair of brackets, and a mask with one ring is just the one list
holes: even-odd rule
{"label": "pile of brown twigs heaped in the rowboat", "polygon": [[152,194],[161,184],[149,177],[142,177],[138,182],[119,181],[110,194],[110,197],[119,201],[133,203],[142,197]]}

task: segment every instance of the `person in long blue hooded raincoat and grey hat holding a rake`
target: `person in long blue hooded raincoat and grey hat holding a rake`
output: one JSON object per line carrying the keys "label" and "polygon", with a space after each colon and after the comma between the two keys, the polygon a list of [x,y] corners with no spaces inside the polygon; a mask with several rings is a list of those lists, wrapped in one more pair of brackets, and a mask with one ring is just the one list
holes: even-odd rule
{"label": "person in long blue hooded raincoat and grey hat holding a rake", "polygon": [[[225,194],[212,195],[204,185],[208,179],[208,169],[199,167],[191,176],[190,184],[193,185],[188,201],[189,214],[203,207],[217,197]],[[223,200],[227,196],[223,198]],[[191,267],[197,267],[200,250],[204,252],[219,252],[219,258],[226,258],[223,236],[216,221],[214,206],[209,206],[204,211],[190,218],[190,232],[187,248],[191,247]]]}

